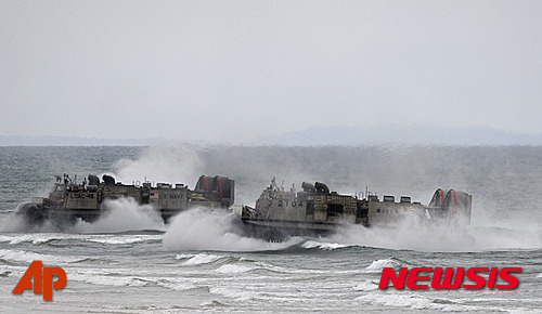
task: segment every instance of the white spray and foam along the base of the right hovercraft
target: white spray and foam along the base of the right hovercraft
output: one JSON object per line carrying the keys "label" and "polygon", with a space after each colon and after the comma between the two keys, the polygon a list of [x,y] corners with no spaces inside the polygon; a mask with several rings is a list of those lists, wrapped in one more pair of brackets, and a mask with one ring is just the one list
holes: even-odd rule
{"label": "white spray and foam along the base of the right hovercraft", "polygon": [[178,214],[164,235],[164,248],[171,251],[270,251],[292,247],[324,250],[371,247],[425,252],[478,252],[542,248],[539,226],[465,228],[404,220],[392,226],[346,224],[328,235],[286,237],[282,241],[246,236],[245,226],[231,212],[193,209]]}

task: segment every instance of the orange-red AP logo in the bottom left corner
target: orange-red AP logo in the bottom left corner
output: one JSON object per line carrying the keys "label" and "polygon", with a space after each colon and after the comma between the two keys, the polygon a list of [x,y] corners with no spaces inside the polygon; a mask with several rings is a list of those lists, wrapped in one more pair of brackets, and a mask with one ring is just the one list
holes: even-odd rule
{"label": "orange-red AP logo in the bottom left corner", "polygon": [[[53,275],[57,277],[55,282],[53,282]],[[23,290],[33,289],[33,286],[34,293],[43,293],[43,300],[52,300],[53,289],[57,290],[66,286],[66,272],[61,267],[42,267],[41,261],[34,261],[11,292],[18,295]]]}

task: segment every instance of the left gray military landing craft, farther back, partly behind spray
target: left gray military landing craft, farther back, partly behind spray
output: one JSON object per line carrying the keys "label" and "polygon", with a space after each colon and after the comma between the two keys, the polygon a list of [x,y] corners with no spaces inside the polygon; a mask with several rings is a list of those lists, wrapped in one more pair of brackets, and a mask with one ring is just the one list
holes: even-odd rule
{"label": "left gray military landing craft, farther back, partly behind spray", "polygon": [[195,207],[229,208],[234,201],[235,182],[225,176],[199,176],[195,188],[184,184],[133,182],[122,184],[104,174],[102,181],[89,174],[82,183],[76,183],[69,175],[57,176],[49,197],[33,197],[21,204],[15,214],[30,224],[51,220],[56,224],[75,223],[77,219],[92,222],[107,208],[104,202],[120,197],[133,198],[141,205],[157,210],[164,221],[177,213]]}

